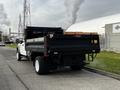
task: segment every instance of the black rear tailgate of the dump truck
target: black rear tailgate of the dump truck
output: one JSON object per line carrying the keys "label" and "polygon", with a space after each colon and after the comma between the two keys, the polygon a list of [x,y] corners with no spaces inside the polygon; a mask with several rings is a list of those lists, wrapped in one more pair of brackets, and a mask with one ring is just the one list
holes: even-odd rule
{"label": "black rear tailgate of the dump truck", "polygon": [[98,35],[56,35],[48,40],[50,51],[98,53],[100,51]]}

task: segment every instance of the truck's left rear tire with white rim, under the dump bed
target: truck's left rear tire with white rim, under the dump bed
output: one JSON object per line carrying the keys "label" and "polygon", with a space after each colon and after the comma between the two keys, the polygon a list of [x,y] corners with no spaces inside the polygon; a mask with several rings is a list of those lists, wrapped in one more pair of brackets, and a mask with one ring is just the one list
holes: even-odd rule
{"label": "truck's left rear tire with white rim, under the dump bed", "polygon": [[41,56],[35,58],[35,72],[37,74],[47,74],[49,72],[48,65]]}

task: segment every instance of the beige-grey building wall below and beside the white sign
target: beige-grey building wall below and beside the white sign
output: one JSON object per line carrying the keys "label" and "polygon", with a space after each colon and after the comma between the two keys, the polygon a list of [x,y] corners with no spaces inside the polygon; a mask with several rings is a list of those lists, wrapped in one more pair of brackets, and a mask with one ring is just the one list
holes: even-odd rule
{"label": "beige-grey building wall below and beside the white sign", "polygon": [[120,52],[120,32],[114,33],[113,25],[105,25],[105,48],[109,51]]}

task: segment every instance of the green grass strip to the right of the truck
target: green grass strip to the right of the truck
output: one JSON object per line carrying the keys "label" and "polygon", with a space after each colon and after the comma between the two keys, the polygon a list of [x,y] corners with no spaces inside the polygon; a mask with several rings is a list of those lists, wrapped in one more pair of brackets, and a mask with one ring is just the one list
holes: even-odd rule
{"label": "green grass strip to the right of the truck", "polygon": [[103,51],[88,66],[120,74],[120,53]]}

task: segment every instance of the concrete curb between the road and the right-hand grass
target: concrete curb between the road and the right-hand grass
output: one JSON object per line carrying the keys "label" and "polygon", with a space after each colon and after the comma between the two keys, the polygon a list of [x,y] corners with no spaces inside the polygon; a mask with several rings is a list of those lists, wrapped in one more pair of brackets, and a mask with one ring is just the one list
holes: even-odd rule
{"label": "concrete curb between the road and the right-hand grass", "polygon": [[113,73],[110,73],[110,72],[106,72],[106,71],[99,70],[99,69],[94,69],[94,68],[91,68],[91,67],[84,67],[84,69],[87,70],[87,71],[98,73],[98,74],[101,74],[101,75],[104,75],[104,76],[107,76],[107,77],[111,77],[111,78],[114,78],[114,79],[120,81],[120,75],[118,75],[118,74],[113,74]]}

